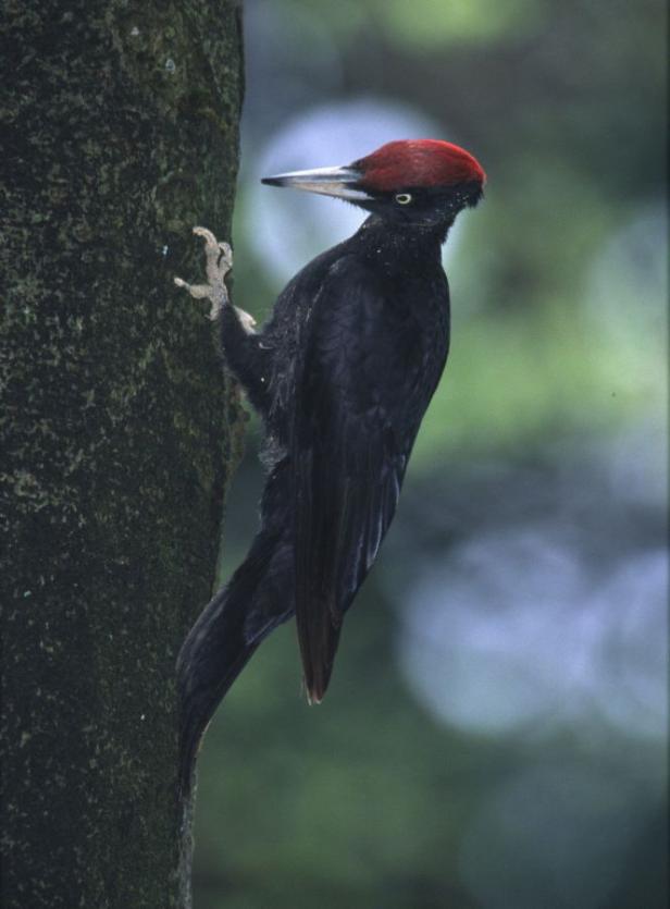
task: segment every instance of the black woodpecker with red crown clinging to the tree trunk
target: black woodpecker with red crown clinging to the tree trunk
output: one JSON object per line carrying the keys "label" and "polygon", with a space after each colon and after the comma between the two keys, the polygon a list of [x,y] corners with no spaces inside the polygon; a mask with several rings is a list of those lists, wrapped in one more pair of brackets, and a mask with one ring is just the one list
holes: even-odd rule
{"label": "black woodpecker with red crown clinging to the tree trunk", "polygon": [[483,197],[473,155],[442,139],[390,142],[345,167],[262,180],[367,212],[317,256],[255,330],[232,306],[231,248],[203,228],[209,297],[225,365],[263,422],[260,529],[177,660],[181,781],[204,730],[261,641],[295,615],[310,703],[328,687],[343,619],[393,520],[421,420],[449,351],[441,249]]}

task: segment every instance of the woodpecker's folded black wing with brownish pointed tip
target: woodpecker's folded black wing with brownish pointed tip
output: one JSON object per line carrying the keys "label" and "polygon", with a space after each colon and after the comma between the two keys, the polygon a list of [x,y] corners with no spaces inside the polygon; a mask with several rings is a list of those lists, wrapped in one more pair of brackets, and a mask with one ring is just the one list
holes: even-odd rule
{"label": "woodpecker's folded black wing with brownish pointed tip", "polygon": [[336,269],[300,344],[290,459],[296,619],[310,701],[325,693],[344,613],[388,529],[415,433],[394,407],[401,344],[379,331],[383,305],[369,281],[350,271],[343,280]]}

